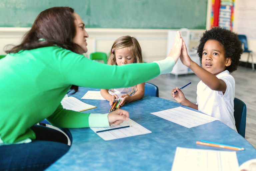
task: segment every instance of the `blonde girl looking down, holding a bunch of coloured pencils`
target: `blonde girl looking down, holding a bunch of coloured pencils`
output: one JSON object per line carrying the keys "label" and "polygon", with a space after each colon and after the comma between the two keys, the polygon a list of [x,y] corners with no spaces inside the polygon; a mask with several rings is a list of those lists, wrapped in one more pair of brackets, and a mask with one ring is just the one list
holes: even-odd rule
{"label": "blonde girl looking down, holding a bunch of coloured pencils", "polygon": [[[142,53],[139,42],[131,36],[119,37],[112,45],[109,65],[126,65],[132,63],[142,63]],[[101,95],[109,101],[112,106],[116,98],[123,98],[120,106],[127,102],[133,102],[144,96],[145,83],[141,83],[132,87],[117,89],[101,89]]]}

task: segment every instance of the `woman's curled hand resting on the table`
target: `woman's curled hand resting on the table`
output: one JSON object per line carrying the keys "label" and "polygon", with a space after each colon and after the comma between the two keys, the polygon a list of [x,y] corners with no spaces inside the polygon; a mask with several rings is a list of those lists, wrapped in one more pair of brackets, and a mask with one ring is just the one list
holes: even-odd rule
{"label": "woman's curled hand resting on the table", "polygon": [[108,114],[109,125],[119,125],[129,119],[129,112],[126,110],[118,109]]}

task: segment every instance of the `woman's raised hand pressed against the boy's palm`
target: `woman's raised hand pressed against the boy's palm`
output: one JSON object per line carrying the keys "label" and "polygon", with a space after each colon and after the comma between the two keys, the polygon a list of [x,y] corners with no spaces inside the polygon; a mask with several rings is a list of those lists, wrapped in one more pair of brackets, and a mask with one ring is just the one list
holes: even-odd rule
{"label": "woman's raised hand pressed against the boy's palm", "polygon": [[175,60],[175,62],[177,62],[177,60],[181,55],[182,42],[183,42],[183,39],[180,35],[180,32],[177,31],[172,49],[168,54],[168,57],[172,57]]}

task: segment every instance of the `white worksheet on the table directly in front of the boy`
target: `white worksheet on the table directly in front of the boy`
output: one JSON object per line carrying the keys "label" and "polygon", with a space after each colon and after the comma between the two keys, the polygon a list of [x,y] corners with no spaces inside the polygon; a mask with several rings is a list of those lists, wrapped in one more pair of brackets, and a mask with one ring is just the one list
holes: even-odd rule
{"label": "white worksheet on the table directly in front of the boy", "polygon": [[154,112],[151,114],[187,128],[192,128],[215,120],[219,120],[217,118],[190,109],[186,109],[184,107],[176,107],[173,109],[167,109],[159,112]]}

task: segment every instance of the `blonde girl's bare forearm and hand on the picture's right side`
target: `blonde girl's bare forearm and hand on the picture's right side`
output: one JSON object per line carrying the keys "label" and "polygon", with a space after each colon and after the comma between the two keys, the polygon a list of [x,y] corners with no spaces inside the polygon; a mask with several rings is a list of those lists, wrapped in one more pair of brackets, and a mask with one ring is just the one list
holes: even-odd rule
{"label": "blonde girl's bare forearm and hand on the picture's right side", "polygon": [[120,106],[123,106],[126,102],[133,102],[136,100],[140,100],[145,93],[145,83],[141,83],[137,85],[137,91],[130,96],[129,94],[122,95],[123,100],[120,103]]}

